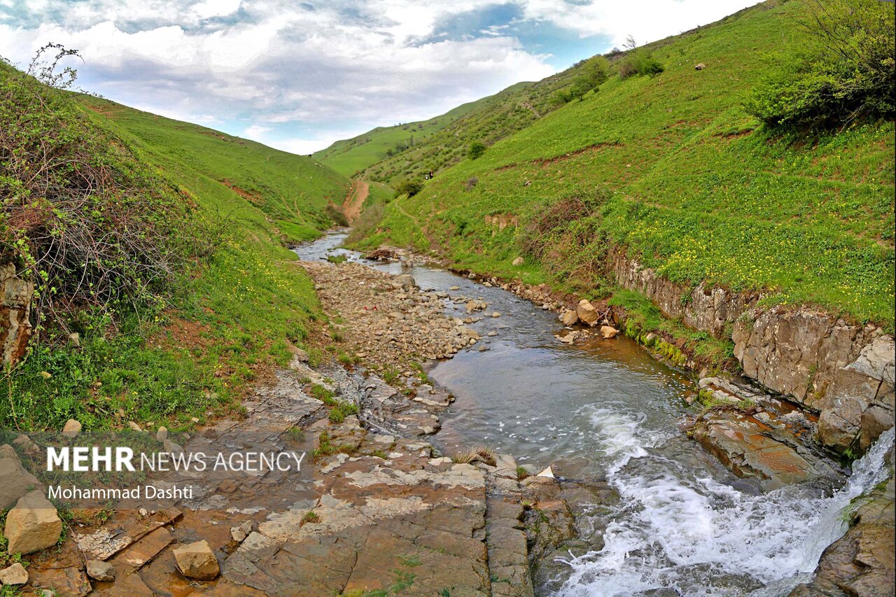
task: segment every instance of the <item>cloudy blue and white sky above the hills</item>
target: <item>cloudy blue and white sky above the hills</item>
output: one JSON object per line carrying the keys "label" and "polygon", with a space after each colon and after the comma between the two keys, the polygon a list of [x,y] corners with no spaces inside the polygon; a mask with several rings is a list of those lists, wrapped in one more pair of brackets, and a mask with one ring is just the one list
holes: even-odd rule
{"label": "cloudy blue and white sky above the hills", "polygon": [[435,117],[755,0],[0,0],[0,56],[81,52],[77,85],[310,153]]}

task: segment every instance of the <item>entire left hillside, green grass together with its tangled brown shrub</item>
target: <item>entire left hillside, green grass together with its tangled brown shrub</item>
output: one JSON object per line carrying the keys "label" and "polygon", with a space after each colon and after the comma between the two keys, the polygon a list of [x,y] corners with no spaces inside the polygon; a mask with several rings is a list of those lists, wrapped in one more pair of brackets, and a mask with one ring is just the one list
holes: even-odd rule
{"label": "entire left hillside, green grass together with its tangled brown shrub", "polygon": [[[0,149],[24,155],[24,169],[49,148],[60,190],[35,197],[14,170],[17,160],[0,165],[0,230],[22,237],[2,236],[0,256],[38,281],[42,297],[59,298],[56,310],[41,314],[30,355],[4,375],[10,408],[0,409],[0,428],[61,428],[70,417],[85,428],[127,420],[187,428],[191,417],[235,408],[247,383],[288,362],[289,344],[303,345],[319,325],[314,286],[284,245],[332,226],[328,206],[344,199],[346,177],[201,126],[50,91],[2,63],[0,130]],[[97,168],[105,178],[79,190],[76,178]],[[82,192],[95,208],[83,206]],[[65,218],[53,218],[74,200]],[[125,212],[128,205],[134,209]],[[40,214],[42,228],[12,228],[22,209]],[[94,217],[96,226],[83,225]],[[65,270],[42,281],[46,260],[31,264],[22,249],[44,250],[42,230],[53,227],[56,238],[84,230],[92,252],[138,225],[139,247],[173,270],[139,296],[86,290],[73,302]],[[118,279],[132,271],[128,260],[142,258],[114,256],[102,265]],[[78,333],[77,341],[68,333]]]}

